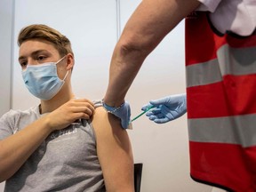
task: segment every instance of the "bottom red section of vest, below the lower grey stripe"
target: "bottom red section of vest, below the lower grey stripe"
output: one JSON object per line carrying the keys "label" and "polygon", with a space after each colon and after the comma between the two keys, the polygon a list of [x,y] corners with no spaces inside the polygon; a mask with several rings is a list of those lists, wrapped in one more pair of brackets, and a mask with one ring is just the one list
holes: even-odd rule
{"label": "bottom red section of vest, below the lower grey stripe", "polygon": [[189,147],[192,177],[237,192],[256,191],[252,174],[255,173],[256,147],[245,149],[254,154],[254,167],[248,165],[244,148],[238,145],[189,141]]}

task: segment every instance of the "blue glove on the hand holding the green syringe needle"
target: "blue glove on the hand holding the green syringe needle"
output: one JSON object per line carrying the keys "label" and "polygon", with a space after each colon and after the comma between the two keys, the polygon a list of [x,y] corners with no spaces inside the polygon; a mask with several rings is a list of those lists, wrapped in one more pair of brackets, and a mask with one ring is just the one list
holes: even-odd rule
{"label": "blue glove on the hand holding the green syringe needle", "polygon": [[145,111],[153,106],[146,116],[156,124],[164,124],[172,121],[187,112],[186,94],[170,95],[159,100],[150,100],[149,103],[141,108]]}

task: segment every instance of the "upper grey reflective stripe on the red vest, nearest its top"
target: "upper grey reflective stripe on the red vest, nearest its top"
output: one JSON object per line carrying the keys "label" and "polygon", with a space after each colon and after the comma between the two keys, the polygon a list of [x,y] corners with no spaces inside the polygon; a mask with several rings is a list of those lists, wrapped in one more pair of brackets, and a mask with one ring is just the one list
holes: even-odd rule
{"label": "upper grey reflective stripe on the red vest, nearest its top", "polygon": [[187,87],[213,84],[222,81],[222,76],[256,74],[256,47],[220,47],[217,59],[186,67]]}

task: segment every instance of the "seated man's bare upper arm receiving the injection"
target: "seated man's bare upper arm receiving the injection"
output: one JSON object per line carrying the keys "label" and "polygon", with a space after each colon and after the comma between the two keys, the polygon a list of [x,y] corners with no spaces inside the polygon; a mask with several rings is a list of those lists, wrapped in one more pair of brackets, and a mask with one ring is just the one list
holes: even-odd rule
{"label": "seated man's bare upper arm receiving the injection", "polygon": [[95,109],[92,125],[107,191],[133,191],[132,146],[126,130],[104,108]]}

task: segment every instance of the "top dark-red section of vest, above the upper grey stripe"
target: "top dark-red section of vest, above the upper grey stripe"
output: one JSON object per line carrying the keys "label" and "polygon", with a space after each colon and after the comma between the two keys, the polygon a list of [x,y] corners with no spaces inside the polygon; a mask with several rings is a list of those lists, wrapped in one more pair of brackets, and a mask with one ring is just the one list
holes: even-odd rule
{"label": "top dark-red section of vest, above the upper grey stripe", "polygon": [[216,58],[216,52],[224,44],[234,48],[256,46],[256,36],[218,36],[212,32],[206,13],[196,12],[197,17],[186,19],[186,65],[202,63]]}

